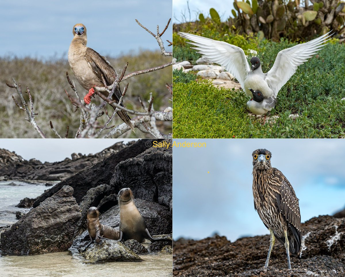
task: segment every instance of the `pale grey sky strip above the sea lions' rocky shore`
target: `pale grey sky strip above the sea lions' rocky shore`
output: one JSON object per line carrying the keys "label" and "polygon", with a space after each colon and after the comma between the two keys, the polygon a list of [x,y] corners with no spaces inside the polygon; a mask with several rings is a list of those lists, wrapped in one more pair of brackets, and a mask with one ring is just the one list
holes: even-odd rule
{"label": "pale grey sky strip above the sea lions' rocky shore", "polygon": [[95,154],[119,141],[127,143],[134,140],[138,139],[0,138],[0,148],[14,151],[25,160],[34,158],[41,162],[57,162],[71,158],[72,153]]}

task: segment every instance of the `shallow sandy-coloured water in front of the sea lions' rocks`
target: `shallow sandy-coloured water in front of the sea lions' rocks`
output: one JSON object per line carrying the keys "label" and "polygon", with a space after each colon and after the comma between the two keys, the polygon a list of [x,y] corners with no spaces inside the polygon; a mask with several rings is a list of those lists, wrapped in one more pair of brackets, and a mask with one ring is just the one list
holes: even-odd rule
{"label": "shallow sandy-coloured water in front of the sea lions' rocks", "polygon": [[86,264],[70,252],[30,256],[0,256],[0,276],[172,276],[171,254],[140,255],[141,262]]}

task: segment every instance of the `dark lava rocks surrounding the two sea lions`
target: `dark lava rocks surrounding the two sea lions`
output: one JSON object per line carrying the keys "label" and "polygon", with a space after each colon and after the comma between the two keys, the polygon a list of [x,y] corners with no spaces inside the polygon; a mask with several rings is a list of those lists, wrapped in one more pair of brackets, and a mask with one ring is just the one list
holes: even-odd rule
{"label": "dark lava rocks surrounding the two sea lions", "polygon": [[[88,208],[99,209],[102,224],[118,226],[116,195],[126,187],[133,191],[151,235],[171,238],[172,149],[151,145],[147,140],[139,140],[102,158],[96,157],[98,161],[46,190],[31,201],[33,209],[11,227],[1,228],[2,254],[30,255],[69,249],[73,255],[80,255],[80,249],[89,242]],[[136,242],[92,243],[82,256],[89,262],[141,260],[136,257],[140,245]],[[171,242],[150,243],[148,252],[163,248],[163,252],[171,253]]]}

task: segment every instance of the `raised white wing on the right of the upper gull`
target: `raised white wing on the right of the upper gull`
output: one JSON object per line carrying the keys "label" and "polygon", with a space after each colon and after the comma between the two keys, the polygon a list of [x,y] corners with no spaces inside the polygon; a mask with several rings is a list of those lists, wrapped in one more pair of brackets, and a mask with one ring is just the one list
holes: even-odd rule
{"label": "raised white wing on the right of the upper gull", "polygon": [[295,74],[297,67],[322,49],[320,47],[325,45],[323,43],[331,36],[329,33],[306,43],[286,48],[278,53],[273,67],[265,74],[265,80],[273,90],[274,97],[277,97],[279,90]]}

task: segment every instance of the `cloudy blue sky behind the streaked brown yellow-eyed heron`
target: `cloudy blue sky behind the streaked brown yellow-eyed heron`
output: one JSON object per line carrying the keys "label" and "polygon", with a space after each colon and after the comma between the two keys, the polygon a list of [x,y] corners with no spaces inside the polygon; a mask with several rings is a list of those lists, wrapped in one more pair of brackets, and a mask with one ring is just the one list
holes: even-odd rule
{"label": "cloudy blue sky behind the streaked brown yellow-eyed heron", "polygon": [[[205,148],[173,149],[173,235],[231,241],[268,234],[254,210],[252,152],[272,152],[272,166],[290,181],[302,222],[345,206],[345,142],[331,139],[208,139]],[[208,173],[209,172],[209,173]]]}

